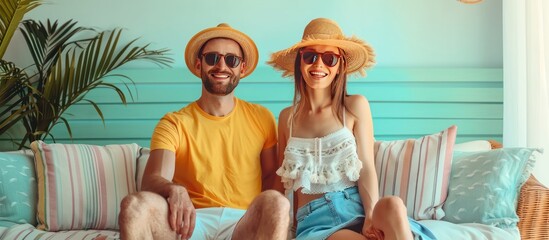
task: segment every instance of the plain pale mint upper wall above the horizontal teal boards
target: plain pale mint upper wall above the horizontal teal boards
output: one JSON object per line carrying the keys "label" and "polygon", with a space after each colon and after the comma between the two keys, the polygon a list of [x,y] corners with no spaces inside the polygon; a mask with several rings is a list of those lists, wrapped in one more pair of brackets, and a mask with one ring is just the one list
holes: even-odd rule
{"label": "plain pale mint upper wall above the horizontal teal boards", "polygon": [[[182,55],[191,36],[220,22],[249,34],[264,65],[270,53],[300,40],[305,25],[316,17],[332,18],[346,34],[370,42],[378,66],[502,67],[501,11],[501,1],[47,0],[27,17],[75,19],[99,29],[123,27],[131,37],[172,49],[175,67],[185,66]],[[20,59],[16,41],[8,57]]]}

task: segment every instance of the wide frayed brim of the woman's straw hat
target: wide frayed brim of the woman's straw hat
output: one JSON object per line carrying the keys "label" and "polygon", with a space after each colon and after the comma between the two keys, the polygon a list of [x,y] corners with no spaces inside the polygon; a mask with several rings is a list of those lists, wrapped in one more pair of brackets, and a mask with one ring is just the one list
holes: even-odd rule
{"label": "wide frayed brim of the woman's straw hat", "polygon": [[345,52],[347,74],[358,72],[364,76],[366,74],[365,70],[375,64],[373,48],[356,37],[340,39],[303,39],[290,48],[273,53],[271,59],[267,63],[282,71],[282,76],[293,76],[297,51],[301,48],[313,45],[335,46],[342,49]]}

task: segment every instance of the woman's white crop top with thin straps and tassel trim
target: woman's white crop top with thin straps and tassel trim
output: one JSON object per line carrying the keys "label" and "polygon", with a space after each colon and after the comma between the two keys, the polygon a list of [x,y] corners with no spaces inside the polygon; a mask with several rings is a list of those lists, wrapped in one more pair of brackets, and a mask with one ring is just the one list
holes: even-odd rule
{"label": "woman's white crop top with thin straps and tassel trim", "polygon": [[341,191],[356,185],[362,162],[358,158],[356,140],[345,126],[320,138],[292,137],[284,150],[284,161],[276,174],[282,177],[286,190],[300,187],[305,194]]}

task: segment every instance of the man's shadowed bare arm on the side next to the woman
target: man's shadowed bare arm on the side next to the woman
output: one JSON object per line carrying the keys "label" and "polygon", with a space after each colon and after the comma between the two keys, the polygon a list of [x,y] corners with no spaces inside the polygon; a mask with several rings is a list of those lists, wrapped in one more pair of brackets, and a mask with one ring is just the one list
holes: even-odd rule
{"label": "man's shadowed bare arm on the side next to the woman", "polygon": [[276,144],[270,148],[263,149],[263,151],[261,151],[261,190],[265,191],[269,189],[274,189],[281,193],[284,193],[284,188],[282,182],[280,181],[280,177],[276,175],[276,170],[279,167],[276,157],[276,151]]}

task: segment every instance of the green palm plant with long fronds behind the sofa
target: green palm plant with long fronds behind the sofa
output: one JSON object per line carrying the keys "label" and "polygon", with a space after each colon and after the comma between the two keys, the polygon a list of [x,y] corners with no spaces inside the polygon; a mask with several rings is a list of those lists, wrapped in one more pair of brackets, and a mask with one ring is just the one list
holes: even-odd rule
{"label": "green palm plant with long fronds behind the sofa", "polygon": [[[97,87],[116,91],[125,104],[125,93],[106,80],[114,78],[126,86],[132,80],[117,74],[116,69],[138,60],[159,66],[172,62],[166,49],[151,50],[148,44],[138,46],[137,39],[122,42],[121,29],[95,31],[77,26],[73,20],[21,22],[22,14],[39,4],[37,0],[2,0],[0,5],[0,25],[9,26],[0,26],[0,135],[14,127],[24,128],[23,136],[12,136],[19,148],[34,140],[55,141],[50,131],[56,124],[64,124],[72,136],[63,113],[80,101],[90,103],[104,120],[99,106],[85,98]],[[21,24],[19,29],[33,60],[29,67],[19,68],[3,59],[13,35],[10,31],[17,30],[14,24]]]}

